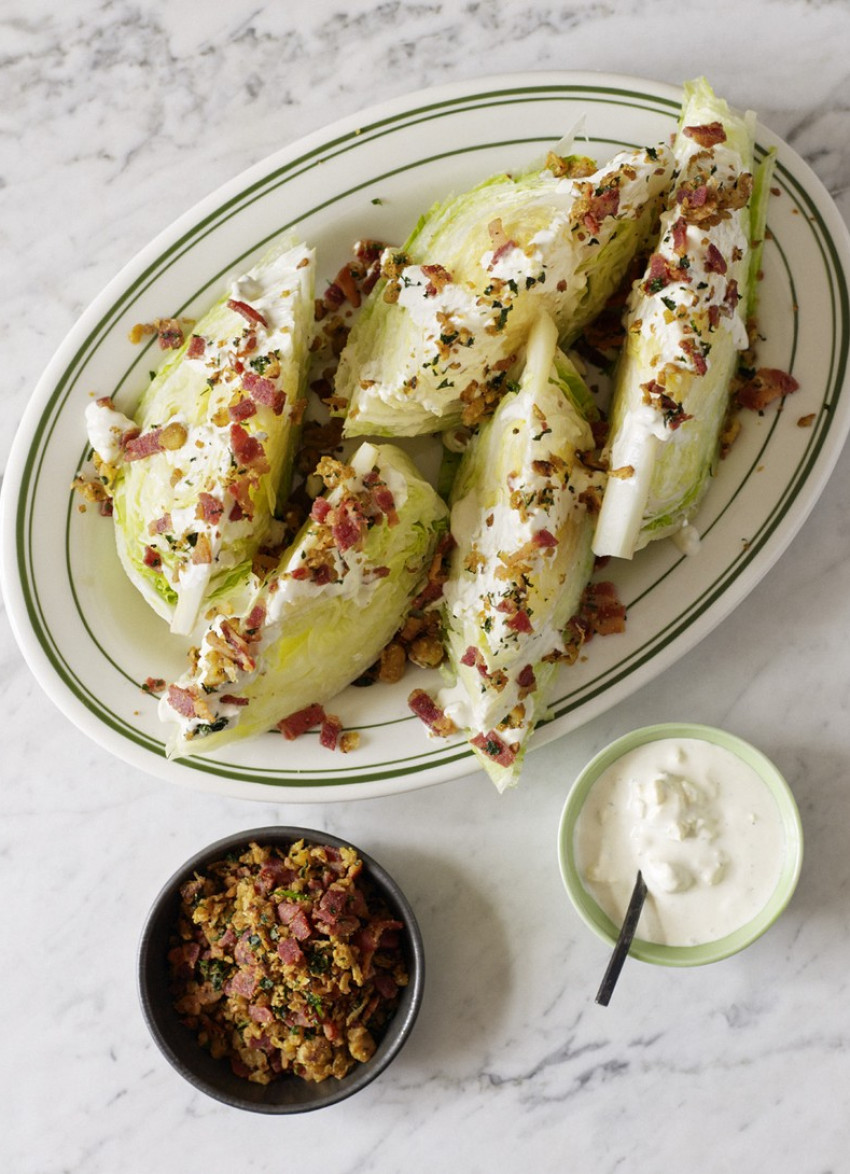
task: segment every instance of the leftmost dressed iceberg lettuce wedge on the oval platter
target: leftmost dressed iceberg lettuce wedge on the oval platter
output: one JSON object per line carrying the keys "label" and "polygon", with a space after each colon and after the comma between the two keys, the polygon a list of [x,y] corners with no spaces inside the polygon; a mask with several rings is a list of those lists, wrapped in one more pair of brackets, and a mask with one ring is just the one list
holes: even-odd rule
{"label": "leftmost dressed iceberg lettuce wedge on the oval platter", "polygon": [[289,493],[313,271],[312,250],[285,241],[194,325],[134,419],[110,399],[87,410],[119,556],[175,633],[250,568]]}

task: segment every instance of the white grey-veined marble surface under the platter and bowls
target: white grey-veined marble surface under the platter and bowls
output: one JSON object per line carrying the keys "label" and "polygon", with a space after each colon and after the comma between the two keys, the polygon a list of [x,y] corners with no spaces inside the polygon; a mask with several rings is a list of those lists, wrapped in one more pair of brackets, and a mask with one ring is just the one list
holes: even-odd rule
{"label": "white grey-veined marble surface under the platter and bowls", "polygon": [[[247,164],[337,115],[436,82],[583,68],[706,73],[810,162],[850,220],[843,0],[625,4],[4,0],[0,6],[2,464],[27,396],[101,286]],[[483,776],[330,805],[254,804],[122,767],[42,695],[0,621],[0,1169],[9,1174],[846,1169],[850,1145],[850,453],[734,615],[638,696]],[[555,861],[581,764],[659,720],[761,745],[797,796],[797,895],[714,967],[606,951]],[[301,823],[367,846],[420,917],[414,1034],[383,1079],[323,1114],[258,1118],[196,1094],[135,992],[158,885],[238,828]]]}

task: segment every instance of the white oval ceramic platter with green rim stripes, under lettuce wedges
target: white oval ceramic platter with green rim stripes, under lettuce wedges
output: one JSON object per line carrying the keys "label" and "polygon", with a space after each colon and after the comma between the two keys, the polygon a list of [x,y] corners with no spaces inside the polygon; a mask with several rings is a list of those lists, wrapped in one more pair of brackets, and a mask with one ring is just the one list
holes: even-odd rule
{"label": "white oval ceramic platter with green rim stripes, under lettuce wedges", "polygon": [[[652,146],[675,124],[681,94],[605,74],[522,74],[413,94],[336,123],[215,193],[144,249],[82,316],[34,390],[2,498],[4,592],[33,673],[59,708],[101,745],[166,780],[251,798],[362,798],[464,775],[463,742],[429,741],[398,686],[350,688],[332,709],[362,731],[352,754],[269,734],[211,757],[164,756],[156,702],[140,684],[174,679],[184,648],[124,579],[112,525],[79,511],[69,485],[86,456],[92,393],[131,410],[158,352],[128,331],[154,317],[197,317],[284,229],[318,248],[330,278],[352,243],[402,243],[437,198],[525,166],[576,123],[581,149],[603,161]],[[700,553],[659,542],[605,575],[628,606],[627,630],[596,639],[564,669],[554,720],[537,744],[621,701],[707,635],[773,566],[817,500],[850,427],[846,229],[809,168],[777,149],[764,251],[761,365],[791,371],[801,390],[744,429],[697,519]],[[811,424],[798,426],[801,417]],[[484,778],[484,776],[483,776]]]}

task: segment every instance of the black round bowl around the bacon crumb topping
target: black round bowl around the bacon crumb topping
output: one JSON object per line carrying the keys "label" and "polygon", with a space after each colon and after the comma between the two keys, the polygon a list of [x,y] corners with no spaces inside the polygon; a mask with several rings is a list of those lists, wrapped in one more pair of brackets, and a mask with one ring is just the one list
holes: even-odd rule
{"label": "black round bowl around the bacon crumb topping", "polygon": [[[171,1001],[168,977],[168,940],[177,922],[180,889],[195,871],[242,851],[250,843],[289,848],[298,839],[310,844],[353,848],[364,864],[364,875],[375,885],[390,910],[404,923],[403,950],[410,981],[402,989],[394,1016],[378,1043],[375,1055],[340,1080],[329,1077],[318,1084],[284,1075],[269,1085],[258,1085],[236,1075],[227,1060],[216,1060],[197,1043],[181,1021]],[[190,1084],[207,1095],[235,1108],[255,1113],[308,1113],[336,1105],[371,1084],[398,1055],[407,1040],[419,1007],[425,983],[425,956],[413,910],[392,877],[371,856],[350,841],[309,828],[255,828],[220,839],[197,852],[166,883],[154,902],[139,947],[139,994],[142,1013],[154,1040],[166,1059]]]}

